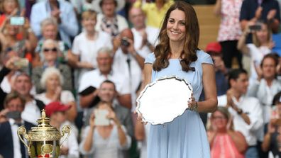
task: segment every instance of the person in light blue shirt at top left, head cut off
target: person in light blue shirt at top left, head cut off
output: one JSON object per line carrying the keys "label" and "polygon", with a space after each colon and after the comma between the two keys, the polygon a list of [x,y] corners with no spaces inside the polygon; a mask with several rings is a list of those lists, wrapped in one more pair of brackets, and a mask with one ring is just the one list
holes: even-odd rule
{"label": "person in light blue shirt at top left, head cut off", "polygon": [[53,17],[59,24],[59,39],[71,46],[70,38],[78,33],[78,23],[72,4],[68,1],[43,0],[34,4],[31,10],[31,27],[38,38],[40,23],[48,17]]}

